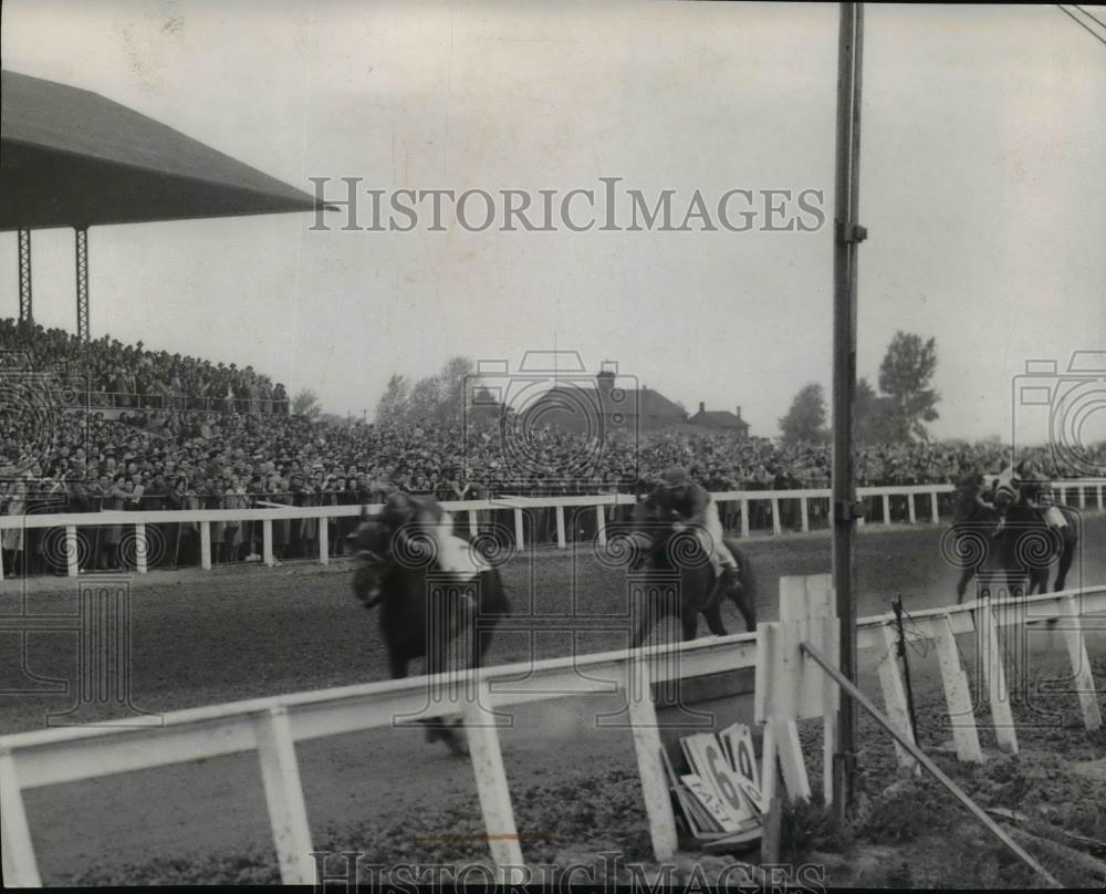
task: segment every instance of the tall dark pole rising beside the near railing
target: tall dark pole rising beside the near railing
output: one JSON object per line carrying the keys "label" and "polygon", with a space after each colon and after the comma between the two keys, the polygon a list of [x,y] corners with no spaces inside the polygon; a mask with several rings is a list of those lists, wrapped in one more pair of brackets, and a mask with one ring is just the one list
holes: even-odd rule
{"label": "tall dark pole rising beside the near railing", "polygon": [[[841,620],[841,673],[856,683],[856,603],[853,540],[862,507],[856,499],[853,423],[856,403],[856,249],[867,236],[856,222],[860,166],[860,66],[864,4],[842,3],[837,44],[837,149],[833,258],[833,586]],[[856,797],[857,706],[841,693],[833,753],[837,817]]]}

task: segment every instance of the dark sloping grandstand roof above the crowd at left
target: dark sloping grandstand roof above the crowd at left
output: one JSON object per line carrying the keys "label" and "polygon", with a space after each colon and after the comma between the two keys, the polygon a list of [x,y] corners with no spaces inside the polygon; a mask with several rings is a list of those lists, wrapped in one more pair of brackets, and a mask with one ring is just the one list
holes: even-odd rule
{"label": "dark sloping grandstand roof above the crowd at left", "polygon": [[0,230],[311,211],[315,199],[87,90],[0,72]]}

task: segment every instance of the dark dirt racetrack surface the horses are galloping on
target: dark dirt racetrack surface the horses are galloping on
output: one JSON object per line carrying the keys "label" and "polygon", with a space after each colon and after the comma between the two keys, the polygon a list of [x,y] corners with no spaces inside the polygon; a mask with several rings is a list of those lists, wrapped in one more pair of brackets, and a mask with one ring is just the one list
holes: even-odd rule
{"label": "dark dirt racetrack surface the horses are galloping on", "polygon": [[[1068,586],[1106,582],[1104,533],[1106,519],[1087,520]],[[859,615],[887,611],[896,593],[908,610],[954,601],[958,571],[941,561],[940,537],[940,529],[929,526],[864,529],[857,551]],[[781,575],[830,570],[824,532],[753,539],[745,549],[759,578],[764,621],[776,617]],[[338,560],[330,569],[254,565],[136,580],[133,703],[167,711],[385,678],[377,618],[354,602],[348,578],[348,565]],[[515,557],[504,580],[514,630],[497,634],[489,663],[625,646],[618,631],[588,631],[588,614],[617,612],[626,599],[624,575],[601,565],[591,547]],[[72,613],[74,591],[72,582],[60,579],[32,581],[25,591],[9,581],[0,589],[0,605],[4,614],[19,613],[21,605],[28,614]],[[724,620],[731,632],[742,630],[732,606]],[[1106,652],[1104,636],[1092,635],[1099,655]],[[0,634],[0,640],[3,688],[25,686],[18,636]],[[71,679],[75,644],[72,633],[30,634],[25,668],[40,677]],[[1061,654],[1062,648],[1058,640],[1040,642],[1042,652]],[[874,657],[862,656],[862,665],[870,667]],[[865,685],[875,694],[870,678]],[[70,695],[2,696],[2,729],[41,728],[46,713],[65,710],[71,701]],[[562,850],[586,845],[597,851],[602,842],[646,855],[633,746],[625,730],[595,728],[594,714],[603,709],[608,706],[594,698],[525,706],[518,710],[515,728],[503,734],[528,860],[555,850],[557,842]],[[298,752],[316,846],[372,844],[382,863],[486,852],[477,839],[472,846],[446,840],[481,831],[471,770],[441,746],[425,745],[420,731],[353,734],[303,744]],[[154,859],[163,867],[158,879],[165,877],[167,861],[177,860],[173,865],[190,869],[169,876],[208,881],[204,855],[212,853],[261,854],[261,864],[268,854],[271,864],[268,874],[259,870],[259,881],[273,877],[252,755],[36,789],[25,800],[46,884],[134,883],[142,877],[139,867]],[[575,823],[575,841],[565,841],[565,810]]]}

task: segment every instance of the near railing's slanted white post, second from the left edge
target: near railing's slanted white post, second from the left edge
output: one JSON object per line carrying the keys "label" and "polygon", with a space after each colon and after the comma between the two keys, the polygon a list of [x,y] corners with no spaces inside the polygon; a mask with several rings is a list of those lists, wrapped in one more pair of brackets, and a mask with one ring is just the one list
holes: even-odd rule
{"label": "near railing's slanted white post, second from the left edge", "polygon": [[254,718],[254,735],[281,882],[314,885],[315,862],[311,857],[307,805],[303,800],[288,709],[278,706]]}

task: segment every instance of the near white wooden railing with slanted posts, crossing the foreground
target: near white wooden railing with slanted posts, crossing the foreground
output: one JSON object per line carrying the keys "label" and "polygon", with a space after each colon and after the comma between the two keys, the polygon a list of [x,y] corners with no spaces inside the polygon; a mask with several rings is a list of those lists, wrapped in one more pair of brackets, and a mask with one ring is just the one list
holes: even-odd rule
{"label": "near white wooden railing with slanted posts, crossing the foreground", "polygon": [[[818,576],[818,575],[815,575]],[[825,576],[825,575],[822,575]],[[807,579],[813,580],[813,579]],[[826,578],[826,580],[828,580]],[[803,579],[781,581],[785,591]],[[782,609],[781,609],[782,612]],[[938,644],[938,658],[961,759],[981,760],[974,706],[961,668],[954,635],[975,631],[981,649],[1001,656],[998,631],[1029,622],[1064,618],[1075,689],[1087,727],[1097,715],[1094,680],[1079,618],[1106,612],[1106,586],[998,601],[985,600],[911,614],[907,635]],[[584,622],[586,623],[586,622]],[[977,623],[980,626],[977,628]],[[877,649],[879,676],[888,714],[907,725],[906,703],[893,643],[894,615],[857,622],[857,647]],[[772,626],[772,625],[766,625]],[[173,711],[101,726],[45,729],[0,737],[0,842],[4,881],[10,886],[39,886],[23,792],[81,779],[164,767],[184,761],[255,751],[261,766],[273,841],[281,879],[288,884],[315,884],[315,865],[295,742],[365,729],[389,727],[401,719],[460,713],[476,776],[477,791],[491,856],[503,870],[521,865],[522,851],[514,824],[511,796],[497,732],[495,708],[546,699],[586,695],[620,695],[626,709],[622,726],[633,730],[638,770],[654,853],[668,860],[677,848],[675,821],[660,757],[660,738],[650,684],[707,676],[741,668],[758,668],[758,633],[695,640],[629,651],[565,656],[538,662],[498,665],[438,677],[369,683],[294,695],[258,698],[227,705]],[[984,672],[988,700],[1000,744],[1009,747],[1013,720],[1002,663],[990,661]],[[608,715],[609,717],[611,715]],[[1003,741],[1002,737],[1005,737]],[[1016,750],[1016,744],[1014,744]],[[828,777],[830,775],[827,775]],[[795,792],[792,792],[794,794]],[[511,877],[509,873],[504,877]]]}

